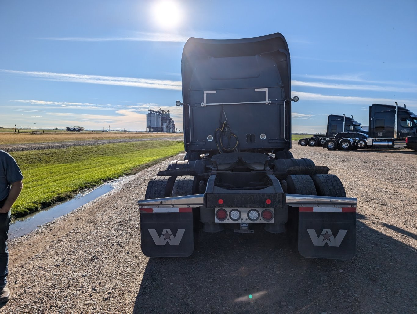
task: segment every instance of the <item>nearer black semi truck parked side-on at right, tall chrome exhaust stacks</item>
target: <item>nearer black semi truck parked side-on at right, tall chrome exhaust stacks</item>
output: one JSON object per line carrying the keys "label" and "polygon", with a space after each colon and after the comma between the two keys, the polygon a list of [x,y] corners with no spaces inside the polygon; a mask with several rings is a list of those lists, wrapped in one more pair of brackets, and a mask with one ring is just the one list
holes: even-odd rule
{"label": "nearer black semi truck parked side-on at right, tall chrome exhaust stacks", "polygon": [[[394,105],[374,103],[369,107],[369,134],[356,132],[356,136],[344,137],[342,133],[327,139],[323,148],[349,150],[352,148],[407,148],[406,138],[417,136],[417,115]],[[366,145],[364,145],[366,139]],[[359,141],[360,140],[360,141]]]}

